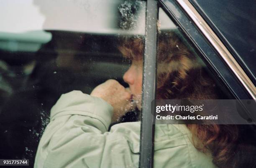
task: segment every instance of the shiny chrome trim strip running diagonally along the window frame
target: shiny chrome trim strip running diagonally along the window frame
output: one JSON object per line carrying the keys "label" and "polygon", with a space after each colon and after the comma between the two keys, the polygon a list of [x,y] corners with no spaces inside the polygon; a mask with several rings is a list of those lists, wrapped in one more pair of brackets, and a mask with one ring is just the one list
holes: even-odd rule
{"label": "shiny chrome trim strip running diagonally along the window frame", "polygon": [[253,99],[256,99],[256,88],[251,82],[249,77],[243,71],[241,66],[236,62],[236,59],[230,54],[225,45],[220,41],[218,36],[212,31],[212,29],[207,25],[205,20],[197,12],[195,7],[188,0],[177,0],[179,5],[183,10],[189,15],[193,20],[198,29],[202,34],[207,38],[207,40],[212,44],[216,51],[220,54],[226,64],[230,67],[232,72],[236,75],[238,80],[243,84],[248,93],[252,96]]}

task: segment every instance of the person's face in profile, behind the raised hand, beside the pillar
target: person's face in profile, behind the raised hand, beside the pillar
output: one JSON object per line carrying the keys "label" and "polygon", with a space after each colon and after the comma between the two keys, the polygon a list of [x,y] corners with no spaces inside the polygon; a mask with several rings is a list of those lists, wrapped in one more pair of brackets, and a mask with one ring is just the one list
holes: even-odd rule
{"label": "person's face in profile, behind the raised hand, beside the pillar", "polygon": [[129,84],[133,101],[136,106],[141,110],[141,94],[142,94],[142,74],[143,74],[143,61],[133,60],[131,67],[123,75],[123,80]]}

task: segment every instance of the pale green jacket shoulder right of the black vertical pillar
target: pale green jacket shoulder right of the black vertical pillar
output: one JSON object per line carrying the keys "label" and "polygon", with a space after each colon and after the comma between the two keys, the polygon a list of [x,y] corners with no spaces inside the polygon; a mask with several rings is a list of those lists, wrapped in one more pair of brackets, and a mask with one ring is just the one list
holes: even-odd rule
{"label": "pale green jacket shoulder right of the black vertical pillar", "polygon": [[[183,124],[156,125],[156,167],[215,168],[210,152],[198,151],[192,143],[192,133]],[[161,162],[161,161],[165,162]]]}

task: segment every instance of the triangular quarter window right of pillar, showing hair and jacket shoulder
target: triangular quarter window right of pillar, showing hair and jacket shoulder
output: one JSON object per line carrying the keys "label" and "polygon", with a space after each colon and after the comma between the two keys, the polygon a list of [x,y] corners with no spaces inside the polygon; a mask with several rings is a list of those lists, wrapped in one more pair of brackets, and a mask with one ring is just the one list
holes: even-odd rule
{"label": "triangular quarter window right of pillar, showing hair and jacket shoulder", "polygon": [[[197,54],[183,32],[161,9],[159,22],[157,99],[232,99],[210,66],[207,67],[204,58]],[[172,113],[167,111],[163,115],[168,119]],[[182,116],[180,111],[175,112],[174,117]],[[256,151],[255,143],[252,143],[255,141],[253,126],[189,124],[189,116],[193,114],[183,115],[188,118],[179,124],[163,124],[168,123],[167,119],[162,123],[156,121],[154,167],[255,165],[252,161]],[[251,135],[245,135],[245,130]],[[246,157],[241,158],[242,155]]]}

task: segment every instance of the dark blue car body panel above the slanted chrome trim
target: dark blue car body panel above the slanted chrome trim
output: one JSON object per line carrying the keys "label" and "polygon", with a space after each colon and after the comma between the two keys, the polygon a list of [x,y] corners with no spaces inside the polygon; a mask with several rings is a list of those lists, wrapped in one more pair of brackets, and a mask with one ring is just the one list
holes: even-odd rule
{"label": "dark blue car body panel above the slanted chrome trim", "polygon": [[255,85],[256,68],[253,63],[256,61],[254,33],[256,5],[254,1],[191,0],[191,2],[219,35]]}

